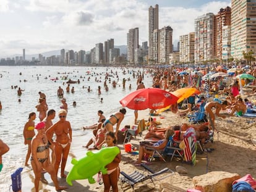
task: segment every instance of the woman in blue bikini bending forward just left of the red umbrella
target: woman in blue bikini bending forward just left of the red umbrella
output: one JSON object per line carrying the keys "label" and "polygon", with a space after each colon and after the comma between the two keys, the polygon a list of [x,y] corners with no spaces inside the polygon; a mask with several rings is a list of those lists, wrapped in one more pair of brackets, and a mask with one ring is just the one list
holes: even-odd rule
{"label": "woman in blue bikini bending forward just left of the red umbrella", "polygon": [[116,112],[113,115],[110,115],[108,119],[105,120],[104,122],[104,127],[106,131],[112,131],[114,132],[113,126],[116,125],[116,139],[117,139],[117,133],[119,130],[119,126],[124,119],[124,115],[126,114],[126,109],[122,108],[119,110],[119,112]]}

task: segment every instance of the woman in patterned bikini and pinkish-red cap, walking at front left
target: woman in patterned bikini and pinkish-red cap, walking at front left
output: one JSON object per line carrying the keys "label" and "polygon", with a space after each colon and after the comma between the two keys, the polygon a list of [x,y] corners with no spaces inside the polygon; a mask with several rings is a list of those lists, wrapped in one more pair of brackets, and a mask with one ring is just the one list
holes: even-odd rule
{"label": "woman in patterned bikini and pinkish-red cap, walking at front left", "polygon": [[35,173],[35,191],[39,191],[39,182],[41,178],[41,170],[45,169],[51,175],[51,179],[55,185],[56,191],[64,190],[66,187],[59,186],[58,179],[53,165],[49,159],[49,144],[45,135],[45,123],[40,122],[36,125],[38,133],[32,140],[32,157],[31,165],[33,172]]}

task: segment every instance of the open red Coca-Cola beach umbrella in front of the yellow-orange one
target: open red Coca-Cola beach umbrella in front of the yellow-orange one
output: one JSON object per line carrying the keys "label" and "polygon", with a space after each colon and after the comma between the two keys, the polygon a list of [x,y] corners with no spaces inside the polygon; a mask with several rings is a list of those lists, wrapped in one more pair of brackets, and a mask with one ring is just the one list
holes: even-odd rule
{"label": "open red Coca-Cola beach umbrella in front of the yellow-orange one", "polygon": [[134,91],[119,102],[123,107],[134,110],[161,109],[177,102],[174,94],[159,88],[145,88]]}

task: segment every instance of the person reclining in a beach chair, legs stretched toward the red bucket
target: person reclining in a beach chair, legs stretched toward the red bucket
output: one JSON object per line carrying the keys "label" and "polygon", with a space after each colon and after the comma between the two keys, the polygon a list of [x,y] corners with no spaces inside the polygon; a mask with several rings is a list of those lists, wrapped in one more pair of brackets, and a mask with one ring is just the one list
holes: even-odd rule
{"label": "person reclining in a beach chair, legs stretched toward the red bucket", "polygon": [[147,149],[147,148],[152,148],[152,149],[164,149],[166,144],[169,141],[169,137],[174,135],[174,130],[172,128],[169,128],[165,132],[165,137],[163,140],[159,140],[156,143],[140,143],[139,146],[139,158],[138,160],[134,163],[135,165],[140,165],[142,162],[142,158],[145,154],[153,154],[153,151]]}

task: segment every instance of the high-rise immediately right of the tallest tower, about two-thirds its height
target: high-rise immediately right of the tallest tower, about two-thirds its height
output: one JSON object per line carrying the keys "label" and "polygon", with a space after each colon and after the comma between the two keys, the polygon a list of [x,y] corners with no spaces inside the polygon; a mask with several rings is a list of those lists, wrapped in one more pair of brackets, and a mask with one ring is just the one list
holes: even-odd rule
{"label": "high-rise immediately right of the tallest tower, about two-thirds its height", "polygon": [[169,54],[173,52],[173,28],[161,28],[159,45],[160,64],[169,64]]}

